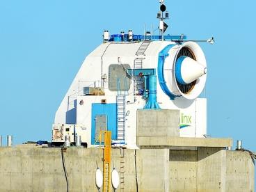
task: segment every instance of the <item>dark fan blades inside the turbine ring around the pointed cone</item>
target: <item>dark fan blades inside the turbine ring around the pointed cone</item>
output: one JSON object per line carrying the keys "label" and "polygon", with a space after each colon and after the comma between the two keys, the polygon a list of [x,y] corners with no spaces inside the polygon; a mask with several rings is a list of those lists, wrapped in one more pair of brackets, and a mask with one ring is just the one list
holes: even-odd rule
{"label": "dark fan blades inside the turbine ring around the pointed cone", "polygon": [[[182,47],[182,49],[179,50],[179,53],[177,55],[177,59],[181,56],[187,56],[187,57],[190,57],[190,58],[192,58],[193,60],[196,61],[196,58],[195,58],[193,52],[188,47]],[[189,93],[193,89],[193,87],[195,86],[195,82],[196,82],[196,80],[189,83],[189,84],[182,85],[181,83],[179,83],[177,81],[177,86],[179,87],[179,90],[182,93],[186,94],[186,93]]]}

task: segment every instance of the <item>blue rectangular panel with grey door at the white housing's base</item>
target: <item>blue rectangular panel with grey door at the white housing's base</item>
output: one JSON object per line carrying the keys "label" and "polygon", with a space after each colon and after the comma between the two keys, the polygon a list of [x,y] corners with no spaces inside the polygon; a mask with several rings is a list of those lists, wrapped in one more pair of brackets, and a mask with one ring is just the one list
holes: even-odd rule
{"label": "blue rectangular panel with grey door at the white housing's base", "polygon": [[92,104],[92,145],[101,130],[111,131],[111,138],[117,140],[116,104]]}

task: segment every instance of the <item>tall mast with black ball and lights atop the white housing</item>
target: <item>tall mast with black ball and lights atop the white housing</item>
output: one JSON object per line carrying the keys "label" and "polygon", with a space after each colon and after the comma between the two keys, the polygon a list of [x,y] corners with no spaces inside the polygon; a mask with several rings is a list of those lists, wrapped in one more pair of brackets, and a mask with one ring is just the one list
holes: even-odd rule
{"label": "tall mast with black ball and lights atop the white housing", "polygon": [[166,29],[168,28],[168,24],[164,22],[165,19],[169,18],[169,13],[166,11],[166,6],[164,5],[164,0],[159,0],[160,3],[160,11],[157,13],[157,19],[159,19],[159,30],[161,32],[162,41],[163,41],[163,35]]}

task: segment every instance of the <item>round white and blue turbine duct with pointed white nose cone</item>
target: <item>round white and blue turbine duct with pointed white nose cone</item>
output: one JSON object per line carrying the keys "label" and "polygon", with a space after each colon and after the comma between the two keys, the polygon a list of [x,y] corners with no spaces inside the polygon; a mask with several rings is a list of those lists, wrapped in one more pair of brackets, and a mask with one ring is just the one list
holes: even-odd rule
{"label": "round white and blue turbine duct with pointed white nose cone", "polygon": [[158,78],[170,99],[198,97],[207,78],[207,63],[200,46],[195,42],[167,45],[159,53]]}

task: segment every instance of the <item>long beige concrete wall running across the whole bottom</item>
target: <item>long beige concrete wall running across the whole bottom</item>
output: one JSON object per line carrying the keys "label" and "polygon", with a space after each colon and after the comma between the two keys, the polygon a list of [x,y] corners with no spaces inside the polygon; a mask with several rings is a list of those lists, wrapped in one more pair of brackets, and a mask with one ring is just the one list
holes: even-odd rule
{"label": "long beige concrete wall running across the whole bottom", "polygon": [[[102,157],[101,149],[67,149],[70,191],[97,191],[95,170],[97,166],[102,170]],[[220,147],[113,149],[112,161],[118,172],[124,166],[125,191],[136,191],[135,165],[138,191],[254,191],[254,165],[248,152]],[[0,147],[0,191],[65,190],[61,149]]]}

